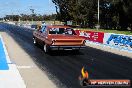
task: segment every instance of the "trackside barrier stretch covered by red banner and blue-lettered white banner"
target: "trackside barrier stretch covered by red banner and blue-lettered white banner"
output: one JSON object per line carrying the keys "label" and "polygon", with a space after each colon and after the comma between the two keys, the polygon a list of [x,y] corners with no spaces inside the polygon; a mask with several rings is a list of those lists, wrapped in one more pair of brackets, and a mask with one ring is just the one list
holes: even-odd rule
{"label": "trackside barrier stretch covered by red banner and blue-lettered white banner", "polygon": [[[112,48],[132,52],[132,35],[94,32],[88,30],[75,30],[78,36],[87,40],[87,43],[106,45]],[[100,44],[99,44],[100,43]]]}

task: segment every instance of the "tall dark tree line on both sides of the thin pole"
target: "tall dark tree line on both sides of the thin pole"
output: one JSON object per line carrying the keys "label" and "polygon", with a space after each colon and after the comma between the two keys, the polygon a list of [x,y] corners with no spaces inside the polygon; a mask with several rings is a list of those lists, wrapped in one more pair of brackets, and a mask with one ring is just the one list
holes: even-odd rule
{"label": "tall dark tree line on both sides of the thin pole", "polygon": [[[52,0],[57,19],[94,28],[98,24],[98,0]],[[132,0],[100,0],[99,24],[105,29],[132,28]]]}

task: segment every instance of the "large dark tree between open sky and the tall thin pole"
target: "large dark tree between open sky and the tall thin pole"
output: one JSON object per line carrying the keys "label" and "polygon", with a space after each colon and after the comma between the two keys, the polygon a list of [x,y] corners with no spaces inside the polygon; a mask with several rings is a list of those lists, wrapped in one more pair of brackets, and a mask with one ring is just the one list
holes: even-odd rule
{"label": "large dark tree between open sky and the tall thin pole", "polygon": [[[93,22],[96,0],[52,0],[61,21],[74,20],[85,25]],[[96,6],[96,7],[95,7]]]}

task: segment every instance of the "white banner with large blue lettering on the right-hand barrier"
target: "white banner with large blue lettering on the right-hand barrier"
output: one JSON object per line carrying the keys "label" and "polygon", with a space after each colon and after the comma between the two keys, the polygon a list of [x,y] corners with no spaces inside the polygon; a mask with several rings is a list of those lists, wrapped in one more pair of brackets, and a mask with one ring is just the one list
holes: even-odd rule
{"label": "white banner with large blue lettering on the right-hand barrier", "polygon": [[103,44],[132,51],[132,35],[105,33]]}

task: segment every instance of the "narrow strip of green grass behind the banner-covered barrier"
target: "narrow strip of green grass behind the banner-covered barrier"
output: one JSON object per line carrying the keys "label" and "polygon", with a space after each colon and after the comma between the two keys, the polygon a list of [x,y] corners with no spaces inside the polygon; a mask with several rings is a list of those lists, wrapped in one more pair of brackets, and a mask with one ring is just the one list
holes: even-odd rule
{"label": "narrow strip of green grass behind the banner-covered barrier", "polygon": [[116,33],[116,34],[126,34],[132,35],[132,31],[118,31],[118,30],[108,30],[108,29],[88,29],[88,28],[76,28],[81,30],[88,30],[88,31],[96,31],[96,32],[104,32],[104,33]]}

